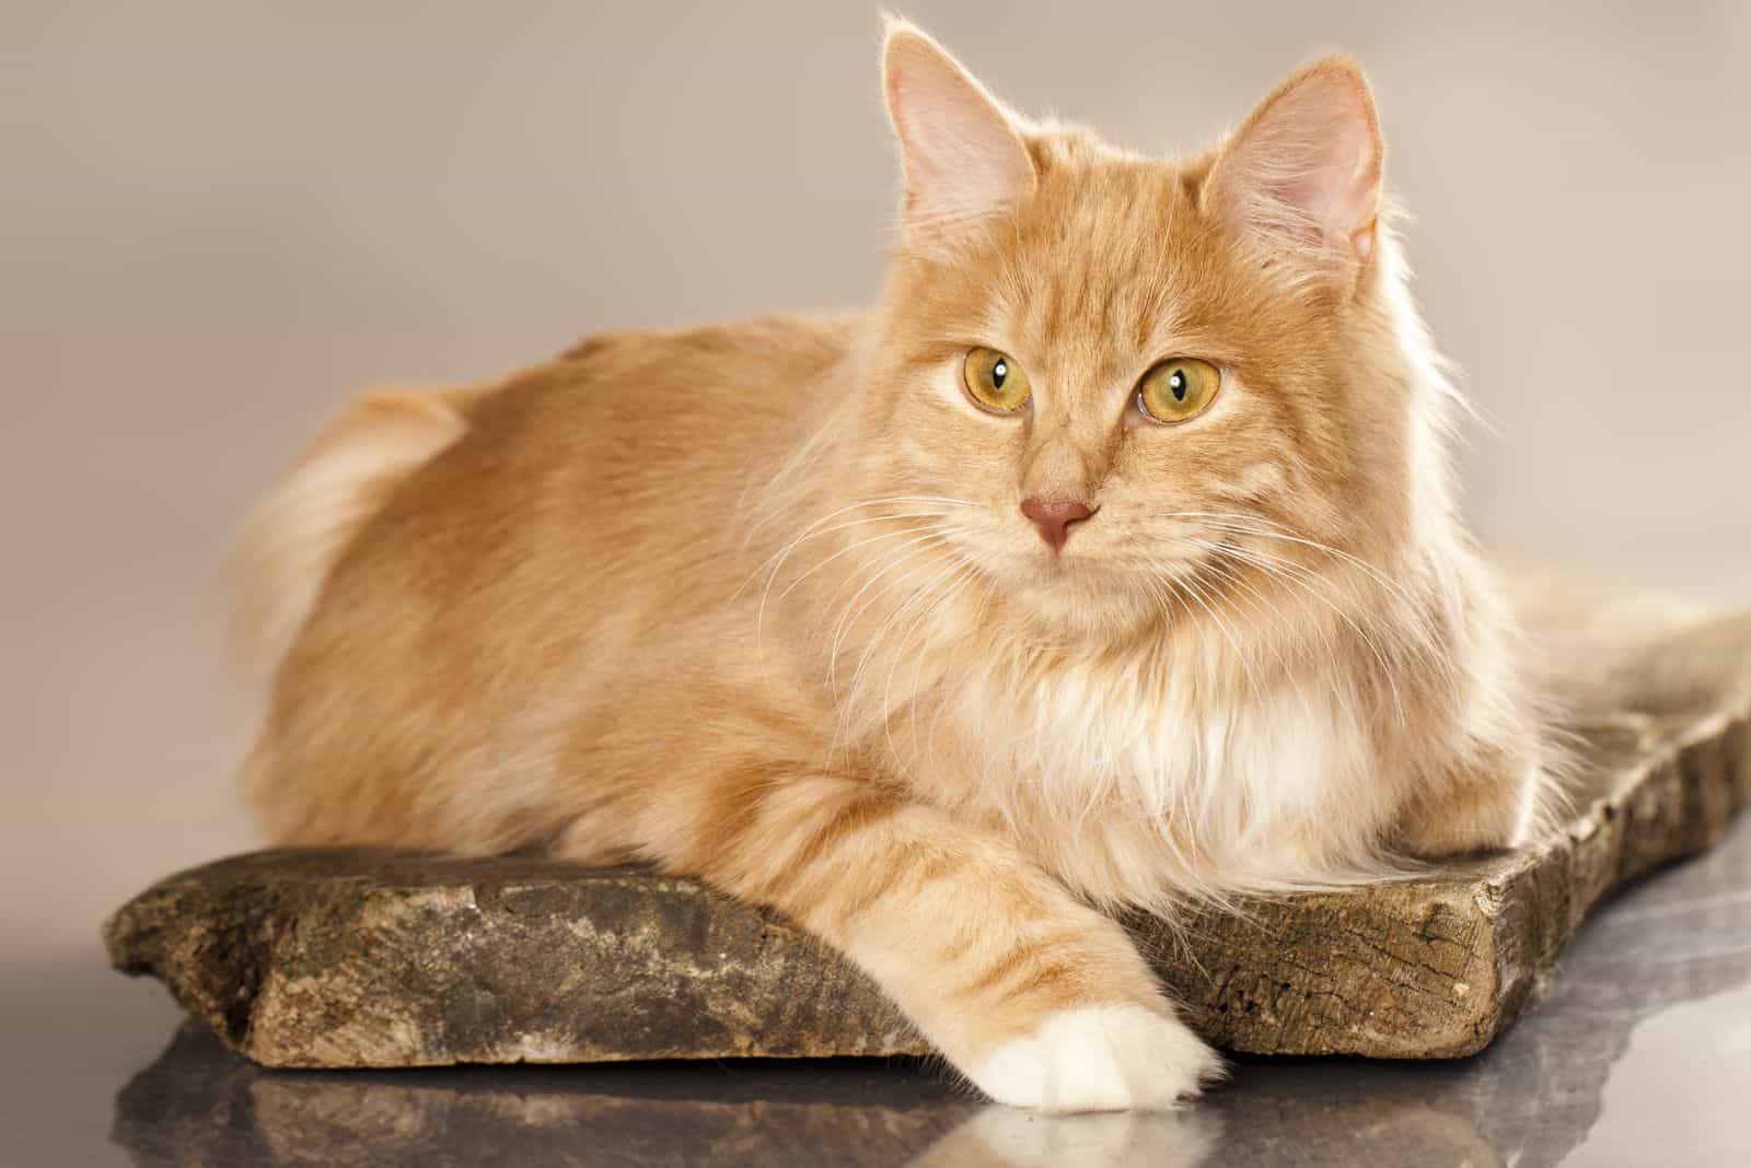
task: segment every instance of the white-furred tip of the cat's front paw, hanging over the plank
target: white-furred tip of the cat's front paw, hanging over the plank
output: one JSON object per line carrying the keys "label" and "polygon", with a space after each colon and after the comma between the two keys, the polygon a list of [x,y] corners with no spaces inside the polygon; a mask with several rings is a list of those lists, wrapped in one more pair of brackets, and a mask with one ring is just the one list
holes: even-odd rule
{"label": "white-furred tip of the cat's front paw, hanging over the plank", "polygon": [[1059,1011],[968,1068],[998,1103],[1044,1112],[1164,1110],[1222,1077],[1185,1023],[1143,1005]]}

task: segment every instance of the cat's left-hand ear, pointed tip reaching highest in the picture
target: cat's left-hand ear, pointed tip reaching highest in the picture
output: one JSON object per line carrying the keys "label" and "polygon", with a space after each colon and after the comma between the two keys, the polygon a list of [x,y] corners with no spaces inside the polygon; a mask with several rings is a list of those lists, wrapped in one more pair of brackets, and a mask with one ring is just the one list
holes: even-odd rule
{"label": "cat's left-hand ear, pointed tip reaching highest in the picture", "polygon": [[888,21],[883,91],[900,140],[909,243],[942,240],[1033,194],[1033,159],[1016,121],[942,45],[902,19]]}

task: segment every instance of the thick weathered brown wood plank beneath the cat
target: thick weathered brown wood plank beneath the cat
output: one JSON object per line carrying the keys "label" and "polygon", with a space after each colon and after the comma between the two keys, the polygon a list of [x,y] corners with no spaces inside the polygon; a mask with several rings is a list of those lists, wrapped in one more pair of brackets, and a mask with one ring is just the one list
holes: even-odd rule
{"label": "thick weathered brown wood plank beneath the cat", "polygon": [[[1525,1005],[1613,888],[1714,843],[1751,797],[1751,710],[1579,727],[1578,813],[1429,878],[1129,927],[1226,1049],[1452,1058]],[[876,986],[777,914],[690,879],[539,859],[263,852],[105,925],[268,1067],[923,1053]]]}

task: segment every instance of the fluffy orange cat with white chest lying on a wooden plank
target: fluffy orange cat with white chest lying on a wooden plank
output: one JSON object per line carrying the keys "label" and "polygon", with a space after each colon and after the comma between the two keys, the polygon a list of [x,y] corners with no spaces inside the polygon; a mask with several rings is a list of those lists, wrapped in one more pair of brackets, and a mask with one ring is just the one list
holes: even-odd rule
{"label": "fluffy orange cat with white chest lying on a wooden plank", "polygon": [[881,302],[364,397],[252,521],[287,845],[646,860],[991,1098],[1219,1072],[1114,923],[1523,838],[1546,766],[1357,66],[1161,161],[893,23]]}

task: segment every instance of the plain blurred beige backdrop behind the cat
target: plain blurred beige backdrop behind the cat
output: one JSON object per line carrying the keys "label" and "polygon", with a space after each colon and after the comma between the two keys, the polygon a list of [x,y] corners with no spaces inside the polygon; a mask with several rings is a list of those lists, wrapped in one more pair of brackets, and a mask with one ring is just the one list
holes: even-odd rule
{"label": "plain blurred beige backdrop behind the cat", "polygon": [[[0,0],[0,951],[247,843],[217,567],[352,386],[870,297],[874,5],[737,7]],[[1751,600],[1751,5],[1522,7],[911,12],[1136,147],[1355,51],[1487,542]]]}

